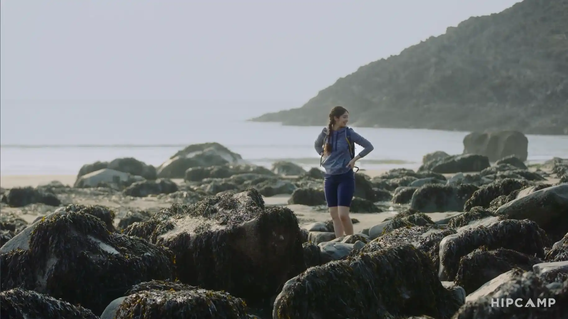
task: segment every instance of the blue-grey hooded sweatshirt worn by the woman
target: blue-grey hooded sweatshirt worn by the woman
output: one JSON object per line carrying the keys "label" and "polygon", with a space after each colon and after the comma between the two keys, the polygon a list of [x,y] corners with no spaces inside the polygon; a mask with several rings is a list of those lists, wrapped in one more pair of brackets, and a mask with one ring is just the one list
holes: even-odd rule
{"label": "blue-grey hooded sweatshirt worn by the woman", "polygon": [[[344,127],[337,131],[332,131],[329,135],[329,144],[332,146],[331,154],[325,158],[321,164],[321,166],[325,169],[325,177],[345,174],[351,170],[350,167],[347,167],[349,161],[351,161],[351,153],[349,143],[347,141],[347,130],[349,130],[351,141],[363,146],[363,150],[358,154],[361,158],[365,157],[371,152],[371,150],[373,150],[373,145],[371,145],[371,143],[364,137],[355,133],[352,128]],[[326,137],[327,127],[321,131],[314,142],[314,148],[320,155],[323,154],[324,145],[327,142]]]}

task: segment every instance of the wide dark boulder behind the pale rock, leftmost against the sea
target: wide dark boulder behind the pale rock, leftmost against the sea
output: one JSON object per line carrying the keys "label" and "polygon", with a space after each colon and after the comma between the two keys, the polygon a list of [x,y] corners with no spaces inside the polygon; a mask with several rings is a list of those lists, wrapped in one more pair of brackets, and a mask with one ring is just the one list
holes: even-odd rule
{"label": "wide dark boulder behind the pale rock, leftmost against the sea", "polygon": [[102,169],[122,171],[123,173],[141,176],[145,179],[156,179],[156,167],[147,165],[146,163],[132,157],[116,158],[110,162],[97,161],[91,164],[85,164],[81,166],[81,169],[77,174],[77,179],[83,175]]}

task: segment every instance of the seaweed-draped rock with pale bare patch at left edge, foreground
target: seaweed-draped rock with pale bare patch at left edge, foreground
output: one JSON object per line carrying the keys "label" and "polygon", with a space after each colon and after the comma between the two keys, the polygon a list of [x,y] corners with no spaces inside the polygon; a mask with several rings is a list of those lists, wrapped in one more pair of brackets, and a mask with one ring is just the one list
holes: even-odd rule
{"label": "seaweed-draped rock with pale bare patch at left edge, foreground", "polygon": [[53,213],[31,227],[28,242],[0,254],[2,290],[30,289],[101,313],[133,284],[174,275],[169,250],[110,233],[93,215]]}

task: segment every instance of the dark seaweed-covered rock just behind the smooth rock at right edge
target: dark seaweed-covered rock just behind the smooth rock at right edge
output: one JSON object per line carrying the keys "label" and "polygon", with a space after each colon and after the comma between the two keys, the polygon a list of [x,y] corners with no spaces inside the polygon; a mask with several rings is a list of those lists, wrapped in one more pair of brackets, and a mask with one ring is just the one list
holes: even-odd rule
{"label": "dark seaweed-covered rock just behind the smooth rock at right edge", "polygon": [[517,181],[516,179],[503,179],[502,181],[488,184],[479,188],[473,195],[466,201],[463,206],[463,211],[470,211],[472,207],[481,206],[488,208],[491,201],[501,195],[509,195],[511,192],[521,190],[522,188],[530,186],[527,181]]}

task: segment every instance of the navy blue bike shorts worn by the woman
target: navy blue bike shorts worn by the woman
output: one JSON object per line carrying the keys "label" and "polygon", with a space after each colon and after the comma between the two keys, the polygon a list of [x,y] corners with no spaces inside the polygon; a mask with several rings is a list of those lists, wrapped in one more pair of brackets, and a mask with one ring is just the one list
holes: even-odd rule
{"label": "navy blue bike shorts worn by the woman", "polygon": [[324,191],[327,207],[350,207],[355,192],[355,173],[349,170],[344,174],[326,177]]}

